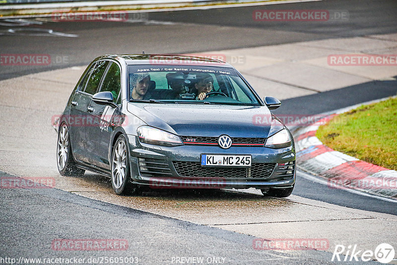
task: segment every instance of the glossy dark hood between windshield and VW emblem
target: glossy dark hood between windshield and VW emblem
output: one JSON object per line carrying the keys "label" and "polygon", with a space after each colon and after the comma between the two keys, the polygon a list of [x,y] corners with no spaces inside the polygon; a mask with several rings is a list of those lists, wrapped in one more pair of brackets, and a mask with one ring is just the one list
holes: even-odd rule
{"label": "glossy dark hood between windshield and VW emblem", "polygon": [[128,111],[181,136],[267,137],[272,122],[265,106],[129,103]]}

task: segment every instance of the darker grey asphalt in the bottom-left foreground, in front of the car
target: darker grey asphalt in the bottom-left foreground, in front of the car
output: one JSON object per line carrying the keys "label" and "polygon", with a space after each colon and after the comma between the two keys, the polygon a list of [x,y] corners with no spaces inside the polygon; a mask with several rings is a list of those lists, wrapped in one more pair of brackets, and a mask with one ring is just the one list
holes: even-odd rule
{"label": "darker grey asphalt in the bottom-left foreground, in front of the car", "polygon": [[[328,252],[255,250],[252,236],[58,189],[0,189],[0,196],[1,258],[136,257],[138,264],[176,264],[173,257],[202,257],[225,264],[333,264]],[[52,248],[56,239],[125,239],[128,249],[59,251]]]}

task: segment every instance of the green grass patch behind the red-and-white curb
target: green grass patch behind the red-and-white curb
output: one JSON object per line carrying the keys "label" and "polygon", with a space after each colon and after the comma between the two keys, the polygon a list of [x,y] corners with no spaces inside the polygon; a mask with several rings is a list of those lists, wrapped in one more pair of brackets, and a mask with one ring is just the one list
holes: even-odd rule
{"label": "green grass patch behind the red-and-white curb", "polygon": [[397,98],[335,116],[316,136],[334,150],[397,170]]}

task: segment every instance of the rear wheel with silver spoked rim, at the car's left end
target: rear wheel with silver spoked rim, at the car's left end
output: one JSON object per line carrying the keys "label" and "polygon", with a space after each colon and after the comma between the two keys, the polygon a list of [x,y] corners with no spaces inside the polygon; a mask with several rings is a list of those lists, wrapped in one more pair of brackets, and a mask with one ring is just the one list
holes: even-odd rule
{"label": "rear wheel with silver spoked rim, at the car's left end", "polygon": [[57,142],[57,165],[58,171],[62,176],[82,177],[85,170],[78,168],[73,160],[70,146],[69,130],[66,124],[62,124],[58,132]]}

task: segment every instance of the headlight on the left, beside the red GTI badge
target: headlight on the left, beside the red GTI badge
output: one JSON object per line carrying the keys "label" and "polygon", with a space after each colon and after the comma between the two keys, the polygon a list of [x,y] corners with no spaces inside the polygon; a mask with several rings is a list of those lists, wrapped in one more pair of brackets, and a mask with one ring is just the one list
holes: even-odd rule
{"label": "headlight on the left, beside the red GTI badge", "polygon": [[156,129],[149,126],[141,126],[137,130],[141,142],[159,144],[159,145],[183,145],[178,135]]}

